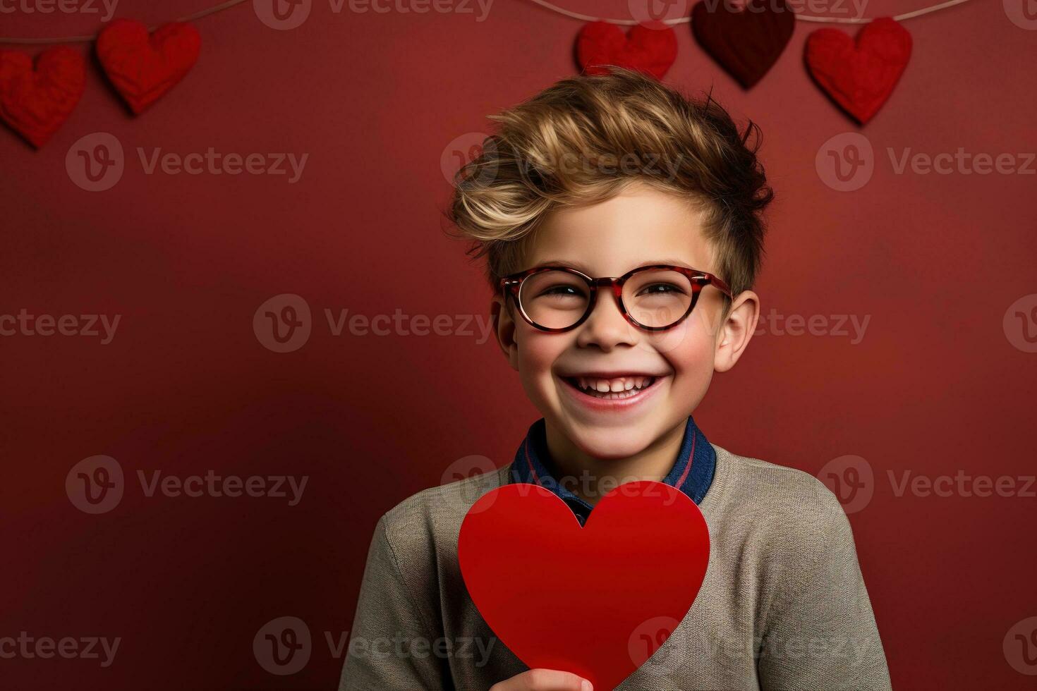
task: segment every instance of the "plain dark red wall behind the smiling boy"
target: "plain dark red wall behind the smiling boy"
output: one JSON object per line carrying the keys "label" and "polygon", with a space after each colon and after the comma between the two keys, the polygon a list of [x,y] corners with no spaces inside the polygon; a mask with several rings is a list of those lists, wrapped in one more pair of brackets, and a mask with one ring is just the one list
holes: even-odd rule
{"label": "plain dark red wall behind the smiling boy", "polygon": [[[874,0],[866,15],[921,4]],[[160,23],[202,6],[123,0],[116,15]],[[566,6],[626,11],[619,1]],[[82,13],[0,17],[6,36],[97,26]],[[377,517],[443,482],[458,459],[507,463],[538,416],[492,342],[334,337],[323,311],[485,313],[480,267],[441,230],[441,160],[455,138],[488,132],[485,115],[576,71],[581,23],[516,0],[497,0],[484,22],[336,13],[314,0],[292,30],[265,26],[251,3],[196,26],[198,64],[144,115],[129,116],[90,65],[82,102],[44,149],[0,133],[0,313],[121,315],[108,345],[0,338],[0,636],[122,638],[107,668],[0,660],[5,688],[333,688],[341,660],[324,632],[352,624]],[[1002,643],[1037,614],[1037,500],[898,496],[887,472],[1033,474],[1037,355],[1013,345],[1020,336],[1003,319],[1037,292],[1037,178],[896,174],[886,149],[1037,150],[1027,86],[1037,30],[978,0],[905,26],[915,54],[861,129],[876,161],[856,192],[831,189],[815,169],[825,141],[857,131],[803,67],[815,25],[797,23],[749,92],[677,27],[666,81],[713,85],[764,133],[779,198],[758,285],[764,314],[871,319],[856,345],[761,334],[695,416],[735,453],[808,472],[845,455],[866,460],[873,498],[850,518],[895,688],[1028,688]],[[91,193],[65,156],[97,132],[119,140],[125,171]],[[148,175],[137,147],[309,159],[295,184]],[[281,293],[313,311],[309,341],[289,353],[263,347],[252,328],[256,309]],[[119,462],[125,492],[88,515],[64,482],[99,454]],[[288,507],[147,497],[138,470],[309,481]],[[305,669],[278,676],[257,664],[252,639],[285,615],[308,624],[314,645]]]}

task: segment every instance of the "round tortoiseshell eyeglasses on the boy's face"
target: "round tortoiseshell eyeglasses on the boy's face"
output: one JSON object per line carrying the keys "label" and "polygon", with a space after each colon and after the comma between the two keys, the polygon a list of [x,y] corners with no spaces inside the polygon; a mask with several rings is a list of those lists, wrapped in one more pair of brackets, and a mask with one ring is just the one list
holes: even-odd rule
{"label": "round tortoiseshell eyeglasses on the boy's face", "polygon": [[543,332],[567,332],[582,324],[594,310],[598,288],[606,287],[612,288],[628,322],[662,332],[683,321],[708,285],[732,296],[728,285],[711,273],[665,264],[598,279],[568,266],[537,266],[500,281],[501,292],[514,298],[523,319]]}

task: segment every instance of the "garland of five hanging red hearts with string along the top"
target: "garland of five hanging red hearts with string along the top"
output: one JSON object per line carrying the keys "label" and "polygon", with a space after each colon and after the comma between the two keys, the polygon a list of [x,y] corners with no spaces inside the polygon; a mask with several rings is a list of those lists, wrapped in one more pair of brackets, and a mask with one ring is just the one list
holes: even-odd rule
{"label": "garland of five hanging red hearts with string along the top", "polygon": [[[96,38],[97,58],[131,111],[140,114],[175,86],[198,59],[201,40],[188,22],[243,4],[227,0],[153,32],[139,22],[117,20]],[[766,75],[784,52],[796,19],[836,21],[798,16],[786,0],[701,0],[683,19],[635,24],[628,33],[616,23],[578,15],[546,0],[538,5],[573,19],[590,21],[580,31],[576,55],[588,75],[616,64],[662,79],[677,56],[671,24],[691,22],[696,40],[745,88]],[[748,2],[741,9],[731,2]],[[893,92],[910,59],[912,36],[897,20],[969,2],[946,0],[893,18],[865,24],[856,40],[836,29],[811,33],[804,61],[814,81],[858,122],[870,120]],[[778,3],[778,4],[774,4]],[[39,39],[0,37],[0,42],[78,42],[92,36]],[[41,147],[68,119],[83,93],[82,57],[67,48],[54,48],[35,60],[18,51],[0,50],[0,120],[36,148]]]}

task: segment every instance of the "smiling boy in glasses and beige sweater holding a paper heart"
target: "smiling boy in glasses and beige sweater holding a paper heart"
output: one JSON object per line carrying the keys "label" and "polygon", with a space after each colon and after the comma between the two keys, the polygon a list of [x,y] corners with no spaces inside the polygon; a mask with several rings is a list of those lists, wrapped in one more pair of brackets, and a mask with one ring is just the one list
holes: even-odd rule
{"label": "smiling boy in glasses and beige sweater holding a paper heart", "polygon": [[465,588],[457,536],[504,484],[544,486],[583,524],[634,480],[697,502],[711,550],[680,626],[618,689],[890,689],[835,496],[708,442],[692,419],[759,315],[750,288],[774,195],[756,125],[739,133],[711,98],[621,68],[563,80],[494,119],[450,215],[486,256],[501,350],[543,418],[508,466],[381,518],[340,691],[588,691],[574,674],[528,669],[496,638]]}

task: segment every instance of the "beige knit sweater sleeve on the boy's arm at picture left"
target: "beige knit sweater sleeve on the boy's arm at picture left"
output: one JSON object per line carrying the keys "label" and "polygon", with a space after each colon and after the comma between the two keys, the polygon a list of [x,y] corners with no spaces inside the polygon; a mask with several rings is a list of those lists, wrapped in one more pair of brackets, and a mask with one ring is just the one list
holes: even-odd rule
{"label": "beige knit sweater sleeve on the boy's arm at picture left", "polygon": [[367,553],[339,691],[446,691],[441,639],[412,599],[386,520],[379,520]]}

